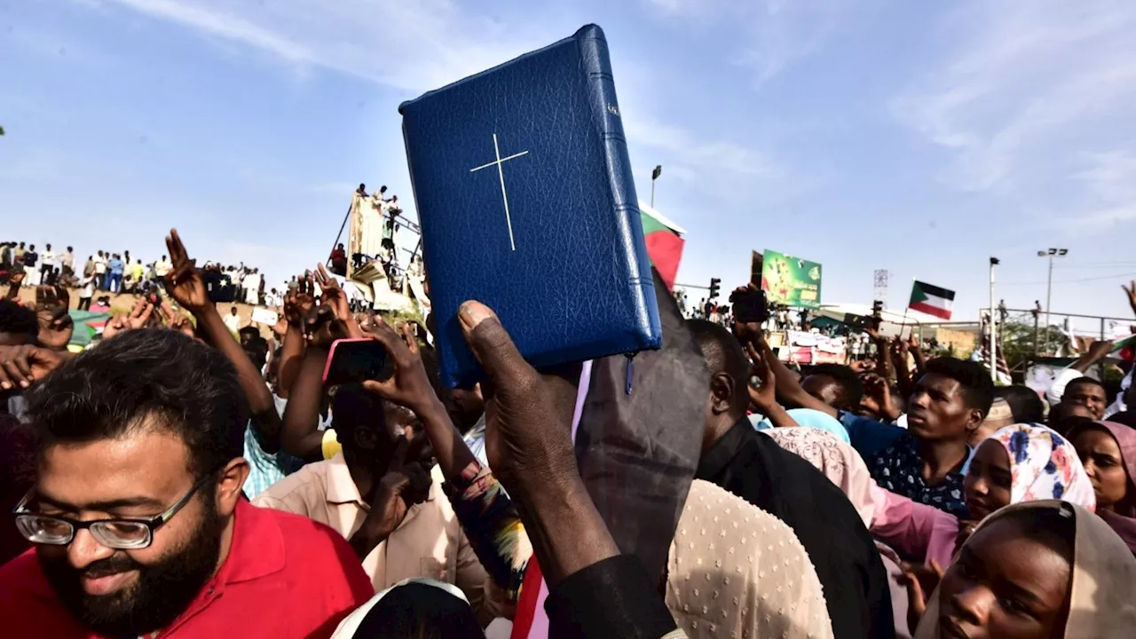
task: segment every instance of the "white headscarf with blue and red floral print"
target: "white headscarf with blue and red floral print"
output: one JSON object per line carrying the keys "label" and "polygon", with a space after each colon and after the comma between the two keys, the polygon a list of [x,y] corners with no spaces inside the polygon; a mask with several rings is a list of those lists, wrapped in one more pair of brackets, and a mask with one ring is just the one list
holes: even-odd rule
{"label": "white headscarf with blue and red floral print", "polygon": [[1061,499],[1096,511],[1093,484],[1072,443],[1039,424],[1014,424],[989,439],[1010,456],[1010,503]]}

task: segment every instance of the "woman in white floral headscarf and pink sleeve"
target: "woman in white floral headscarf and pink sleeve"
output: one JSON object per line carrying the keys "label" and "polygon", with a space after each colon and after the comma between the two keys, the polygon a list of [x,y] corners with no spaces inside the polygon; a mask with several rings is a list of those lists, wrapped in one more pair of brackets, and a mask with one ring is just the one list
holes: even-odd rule
{"label": "woman in white floral headscarf and pink sleeve", "polygon": [[901,555],[920,557],[928,566],[950,564],[978,522],[1003,506],[1061,499],[1089,512],[1096,508],[1093,484],[1072,443],[1037,424],[1000,429],[975,450],[963,482],[967,520],[875,490],[871,532]]}

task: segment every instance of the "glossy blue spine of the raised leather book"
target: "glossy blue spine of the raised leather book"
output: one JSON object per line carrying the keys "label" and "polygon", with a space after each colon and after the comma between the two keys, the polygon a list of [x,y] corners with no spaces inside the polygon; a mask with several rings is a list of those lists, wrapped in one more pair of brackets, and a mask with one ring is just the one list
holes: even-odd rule
{"label": "glossy blue spine of the raised leather book", "polygon": [[627,138],[624,135],[623,116],[619,113],[619,100],[616,98],[616,82],[611,75],[608,41],[603,36],[603,31],[596,25],[580,28],[576,33],[576,40],[580,49],[583,70],[586,74],[593,124],[599,127],[603,141],[619,238],[624,242],[616,252],[628,260],[632,296],[638,310],[636,315],[642,323],[643,334],[655,338],[642,346],[659,348],[662,342],[662,329],[654,298],[654,280],[651,276],[651,260],[643,239],[638,196],[635,193],[632,160],[627,153]]}

